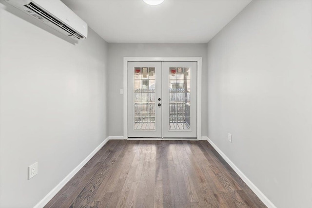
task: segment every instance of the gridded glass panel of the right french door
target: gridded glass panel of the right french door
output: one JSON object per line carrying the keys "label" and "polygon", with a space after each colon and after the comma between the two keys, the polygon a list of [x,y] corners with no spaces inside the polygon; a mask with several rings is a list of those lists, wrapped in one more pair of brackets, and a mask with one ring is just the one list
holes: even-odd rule
{"label": "gridded glass panel of the right french door", "polygon": [[169,130],[191,130],[191,68],[169,68]]}

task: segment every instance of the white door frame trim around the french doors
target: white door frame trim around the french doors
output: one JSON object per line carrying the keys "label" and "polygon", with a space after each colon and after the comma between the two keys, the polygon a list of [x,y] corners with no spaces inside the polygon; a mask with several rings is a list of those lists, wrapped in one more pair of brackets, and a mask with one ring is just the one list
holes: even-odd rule
{"label": "white door frame trim around the french doors", "polygon": [[123,139],[128,139],[128,61],[197,62],[197,139],[201,139],[201,57],[123,57]]}

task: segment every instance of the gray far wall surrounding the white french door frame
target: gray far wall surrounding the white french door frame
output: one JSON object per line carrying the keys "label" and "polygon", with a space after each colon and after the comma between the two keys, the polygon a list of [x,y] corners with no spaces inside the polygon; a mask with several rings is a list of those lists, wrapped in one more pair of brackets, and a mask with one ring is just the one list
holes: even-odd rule
{"label": "gray far wall surrounding the white french door frame", "polygon": [[[207,44],[109,43],[109,135],[123,135],[123,57],[202,57],[202,77],[207,77]],[[202,85],[202,126],[207,126],[207,82]],[[207,128],[202,135],[207,136]]]}

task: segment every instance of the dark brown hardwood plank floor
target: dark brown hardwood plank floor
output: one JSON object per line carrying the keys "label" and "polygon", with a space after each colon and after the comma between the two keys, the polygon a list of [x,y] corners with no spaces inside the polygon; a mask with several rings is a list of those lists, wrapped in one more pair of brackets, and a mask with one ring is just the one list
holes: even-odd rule
{"label": "dark brown hardwood plank floor", "polygon": [[45,208],[266,208],[207,141],[110,140]]}

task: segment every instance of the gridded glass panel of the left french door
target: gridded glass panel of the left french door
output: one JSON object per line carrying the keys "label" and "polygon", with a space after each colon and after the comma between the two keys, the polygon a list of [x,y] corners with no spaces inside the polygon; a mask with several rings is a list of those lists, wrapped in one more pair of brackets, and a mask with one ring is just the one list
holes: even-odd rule
{"label": "gridded glass panel of the left french door", "polygon": [[155,130],[155,67],[134,70],[134,130]]}

